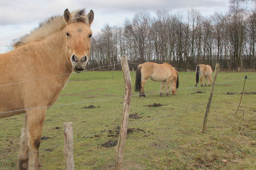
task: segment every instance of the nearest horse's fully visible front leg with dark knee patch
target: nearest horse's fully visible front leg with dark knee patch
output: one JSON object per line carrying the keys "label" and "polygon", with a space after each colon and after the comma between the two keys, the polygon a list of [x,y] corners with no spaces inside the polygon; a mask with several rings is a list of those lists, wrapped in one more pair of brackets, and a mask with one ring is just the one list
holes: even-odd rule
{"label": "nearest horse's fully visible front leg with dark knee patch", "polygon": [[42,127],[46,115],[46,108],[34,109],[27,112],[28,122],[28,169],[39,170],[41,163],[39,161],[39,146],[41,142]]}

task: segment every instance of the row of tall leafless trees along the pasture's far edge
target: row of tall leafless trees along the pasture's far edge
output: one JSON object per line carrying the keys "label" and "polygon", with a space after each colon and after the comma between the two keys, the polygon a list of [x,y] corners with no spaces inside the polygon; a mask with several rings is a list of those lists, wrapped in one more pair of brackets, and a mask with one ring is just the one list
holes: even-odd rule
{"label": "row of tall leafless trees along the pasture's far edge", "polygon": [[91,41],[88,68],[109,65],[121,69],[120,56],[127,54],[130,68],[152,61],[170,63],[180,69],[196,69],[198,64],[222,69],[256,68],[256,1],[230,0],[226,14],[203,16],[191,8],[171,13],[159,10],[137,12],[122,26],[105,24]]}

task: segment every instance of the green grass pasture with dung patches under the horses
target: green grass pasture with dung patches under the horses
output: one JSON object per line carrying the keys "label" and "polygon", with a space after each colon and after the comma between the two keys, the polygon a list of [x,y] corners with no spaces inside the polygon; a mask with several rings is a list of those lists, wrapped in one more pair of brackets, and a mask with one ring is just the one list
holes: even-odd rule
{"label": "green grass pasture with dung patches under the horses", "polygon": [[[42,132],[48,138],[41,141],[39,153],[43,170],[65,169],[65,122],[73,122],[75,169],[115,168],[115,147],[101,145],[118,138],[123,72],[113,71],[113,79],[111,71],[79,75],[81,81],[77,73],[71,75],[54,105],[85,103],[48,109]],[[244,117],[242,111],[234,116],[245,75],[247,94],[240,104]],[[131,77],[134,85],[132,71]],[[129,119],[123,169],[256,169],[256,73],[218,73],[206,134],[202,126],[211,87],[187,88],[194,83],[194,72],[179,72],[175,96],[151,93],[160,87],[151,80],[144,88],[151,93],[147,97],[133,92],[130,114],[137,113],[137,119]],[[163,106],[147,106],[153,103]],[[90,105],[96,107],[82,108]],[[23,121],[24,114],[0,119],[0,169],[16,167]]]}

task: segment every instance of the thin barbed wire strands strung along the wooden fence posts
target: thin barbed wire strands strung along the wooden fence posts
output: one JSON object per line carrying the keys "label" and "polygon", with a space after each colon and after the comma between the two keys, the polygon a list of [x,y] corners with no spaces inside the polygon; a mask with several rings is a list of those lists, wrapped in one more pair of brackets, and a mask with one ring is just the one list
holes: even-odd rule
{"label": "thin barbed wire strands strung along the wooden fence posts", "polygon": [[[129,62],[128,62],[129,63]],[[137,64],[137,63],[133,63],[133,64]],[[118,64],[115,64],[115,65],[118,65]],[[108,66],[112,66],[112,65],[107,65],[107,66],[102,66],[102,67],[108,67]],[[94,69],[98,69],[98,68],[102,68],[102,67],[97,67],[97,68],[94,68]],[[89,70],[93,70],[93,69],[89,69]],[[89,71],[89,70],[86,70],[86,71]],[[185,69],[183,69],[185,70]],[[189,71],[194,71],[194,70],[189,70]],[[70,74],[70,73],[69,73]],[[66,74],[62,74],[62,75],[66,75]],[[56,76],[61,76],[61,75],[56,75]],[[51,76],[51,77],[56,77],[56,76]],[[44,78],[41,78],[41,79],[46,79],[46,78],[50,78],[50,77],[44,77]],[[254,79],[256,78],[255,77],[248,77],[248,79]],[[29,80],[29,81],[36,81],[36,80],[40,80],[40,79],[34,79],[34,80]],[[225,81],[225,82],[220,82],[220,83],[215,83],[216,85],[217,84],[223,84],[223,83],[231,83],[231,82],[235,82],[235,81],[242,81],[244,79],[237,79],[237,80],[232,80],[232,81]],[[28,82],[28,81],[22,81],[22,82],[17,82],[17,83],[24,83],[24,82]],[[17,84],[17,83],[11,83],[11,84],[7,84],[7,85],[12,85],[12,84]],[[6,85],[0,85],[1,86],[6,86]],[[200,86],[197,86],[197,87],[200,87]],[[184,90],[184,89],[192,89],[192,88],[196,88],[196,87],[184,87],[184,88],[181,88],[181,89],[176,89],[176,90]],[[256,89],[256,88],[252,88],[252,89],[246,89],[246,90],[253,90],[253,89]],[[167,91],[172,91],[172,90],[167,90]],[[154,93],[160,93],[160,92],[167,92],[167,91],[155,91],[155,92],[150,92],[150,93],[144,93],[144,94],[154,94]],[[136,95],[131,95],[131,96],[138,96],[139,94],[136,94]],[[42,108],[49,108],[49,107],[60,107],[60,106],[67,106],[67,105],[75,105],[75,104],[81,104],[81,103],[89,103],[89,102],[96,102],[96,101],[105,101],[105,100],[109,100],[109,99],[118,99],[118,98],[123,98],[123,96],[119,96],[119,97],[111,97],[111,98],[106,98],[106,99],[98,99],[98,100],[91,100],[91,101],[81,101],[81,102],[77,102],[77,103],[68,103],[68,104],[62,104],[62,105],[53,105],[53,106],[46,106],[46,107],[37,107],[37,108],[30,108],[30,109],[21,109],[21,110],[15,110],[15,111],[8,111],[8,112],[1,112],[1,114],[4,114],[4,113],[11,113],[11,112],[16,112],[16,111],[27,111],[27,110],[32,110],[32,109],[42,109]],[[177,114],[177,113],[180,113],[180,112],[183,112],[185,110],[189,110],[193,107],[196,107],[198,105],[202,105],[202,104],[206,104],[207,102],[204,102],[204,103],[199,103],[197,105],[193,105],[191,107],[184,107],[186,109],[183,109],[183,110],[180,110],[180,111],[177,111],[173,114]],[[136,123],[130,123],[129,125],[135,125],[135,124],[139,124],[139,123],[143,123],[143,122],[147,122],[147,121],[153,121],[153,120],[156,120],[156,119],[161,119],[161,118],[164,118],[164,117],[167,117],[168,115],[165,115],[165,116],[161,116],[161,117],[156,117],[156,118],[153,118],[153,119],[149,119],[149,120],[144,120],[144,121],[138,121]],[[116,127],[116,128],[113,128],[113,129],[110,129],[110,130],[116,130],[118,129],[119,127]],[[101,133],[104,133],[104,132],[108,132],[110,130],[103,130],[101,132],[98,132],[98,133],[94,133],[94,134],[91,134],[91,135],[88,135],[88,136],[84,136],[80,139],[77,139],[77,140],[73,140],[73,142],[77,142],[77,141],[80,141],[80,140],[83,140],[85,138],[90,138],[92,136],[95,136],[97,134],[101,134]],[[65,143],[65,144],[68,144],[68,143]],[[56,145],[56,146],[52,146],[50,148],[46,148],[46,149],[41,149],[37,152],[42,152],[42,151],[46,151],[46,150],[49,150],[49,149],[53,149],[53,148],[57,148],[59,146],[64,146],[65,144],[59,144],[59,145]],[[22,156],[27,156],[27,155],[30,155],[30,154],[34,154],[34,153],[37,153],[37,152],[32,152],[32,153],[29,153],[29,154],[25,154],[25,155],[22,155]],[[12,158],[8,158],[8,159],[4,159],[4,160],[0,160],[0,162],[6,162],[8,160],[12,160],[12,159],[15,159],[15,158],[19,158],[19,157],[22,157],[22,156],[15,156],[15,157],[12,157]],[[6,168],[3,168],[0,166],[1,169],[6,169]]]}

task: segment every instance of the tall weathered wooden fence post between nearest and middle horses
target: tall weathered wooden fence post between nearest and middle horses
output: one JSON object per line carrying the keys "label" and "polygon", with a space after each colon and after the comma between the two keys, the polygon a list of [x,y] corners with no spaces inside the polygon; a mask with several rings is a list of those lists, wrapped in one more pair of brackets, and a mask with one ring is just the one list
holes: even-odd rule
{"label": "tall weathered wooden fence post between nearest and middle horses", "polygon": [[125,139],[127,135],[129,110],[131,104],[131,75],[129,70],[129,65],[127,62],[127,56],[125,58],[121,57],[121,66],[123,69],[123,78],[125,80],[125,95],[123,99],[123,112],[122,112],[122,122],[120,126],[120,133],[118,138],[117,146],[115,147],[115,169],[121,170],[123,164],[123,152],[125,148]]}

